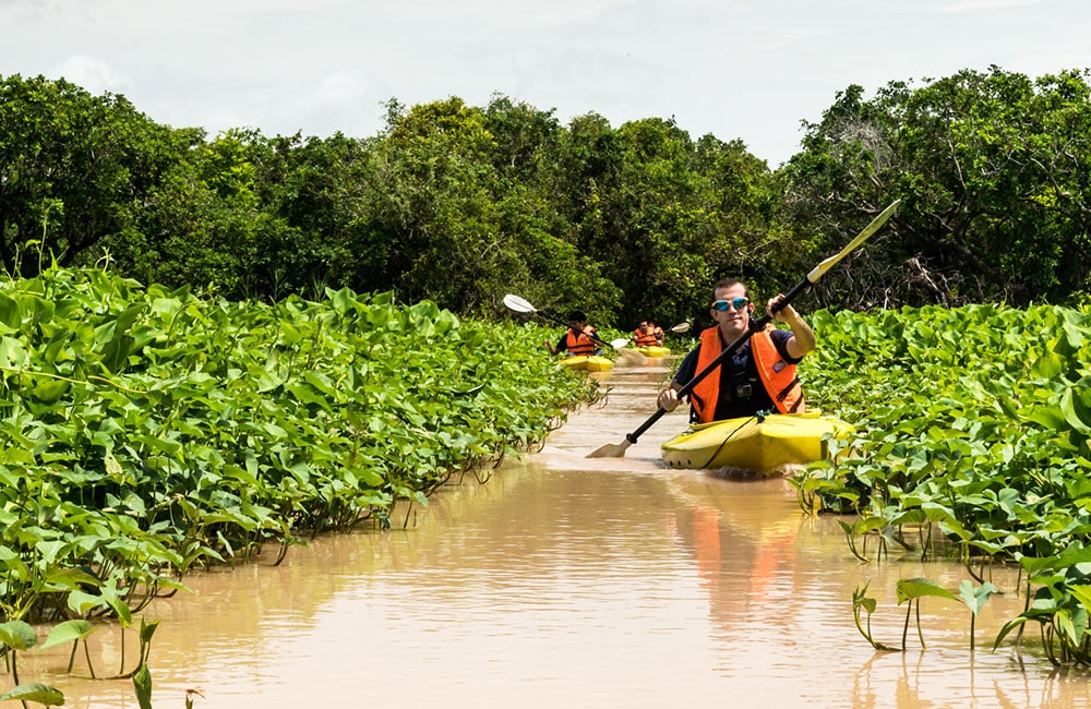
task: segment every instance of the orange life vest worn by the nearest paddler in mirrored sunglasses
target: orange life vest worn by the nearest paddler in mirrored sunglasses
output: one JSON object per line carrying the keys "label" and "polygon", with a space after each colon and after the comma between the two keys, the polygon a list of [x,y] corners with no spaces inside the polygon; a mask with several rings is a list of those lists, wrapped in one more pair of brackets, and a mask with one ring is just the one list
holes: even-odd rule
{"label": "orange life vest worn by the nearest paddler in mirrored sunglasses", "polygon": [[[802,413],[806,410],[803,402],[803,389],[800,387],[800,380],[795,375],[795,365],[786,362],[777,351],[777,346],[772,343],[769,332],[774,329],[767,325],[765,329],[754,333],[751,336],[751,357],[757,366],[758,376],[765,390],[769,393],[774,406],[781,413]],[[705,371],[705,368],[712,363],[720,352],[723,351],[723,344],[720,341],[720,328],[709,327],[700,333],[700,350],[697,353],[697,372]],[[693,387],[690,393],[690,402],[697,416],[697,421],[708,423],[716,416],[716,402],[720,398],[720,372],[714,371]]]}

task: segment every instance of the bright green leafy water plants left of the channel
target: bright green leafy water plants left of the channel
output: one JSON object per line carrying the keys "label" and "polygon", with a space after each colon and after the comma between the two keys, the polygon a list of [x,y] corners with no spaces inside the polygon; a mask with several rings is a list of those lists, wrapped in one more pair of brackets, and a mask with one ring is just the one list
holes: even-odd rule
{"label": "bright green leafy water plants left of the channel", "polygon": [[98,269],[0,288],[0,616],[128,617],[189,569],[423,504],[597,396],[430,301],[275,304]]}

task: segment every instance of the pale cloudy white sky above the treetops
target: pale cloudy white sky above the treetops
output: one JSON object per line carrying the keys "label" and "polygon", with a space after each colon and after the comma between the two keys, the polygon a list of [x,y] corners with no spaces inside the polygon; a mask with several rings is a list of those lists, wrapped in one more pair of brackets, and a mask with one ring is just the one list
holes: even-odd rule
{"label": "pale cloudy white sky above the treetops", "polygon": [[370,136],[382,104],[493,93],[567,123],[671,118],[775,168],[838,91],[1091,67],[1089,0],[0,0],[0,75],[215,135]]}

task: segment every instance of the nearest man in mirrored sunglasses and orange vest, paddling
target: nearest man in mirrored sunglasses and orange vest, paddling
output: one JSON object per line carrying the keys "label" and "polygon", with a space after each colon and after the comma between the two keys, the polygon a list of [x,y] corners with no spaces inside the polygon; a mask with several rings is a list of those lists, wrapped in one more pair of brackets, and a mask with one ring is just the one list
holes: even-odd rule
{"label": "nearest man in mirrored sunglasses and orange vest, paddling", "polygon": [[[772,311],[782,298],[783,293],[770,299],[766,310],[791,329],[770,324],[754,333],[720,364],[718,372],[698,382],[690,393],[691,421],[707,423],[754,416],[758,411],[805,410],[795,365],[815,348],[815,334],[790,304]],[[746,285],[734,278],[717,281],[709,312],[716,326],[700,334],[700,345],[686,354],[671,385],[659,395],[659,406],[667,411],[678,407],[679,389],[750,328],[754,304],[750,302]]]}

